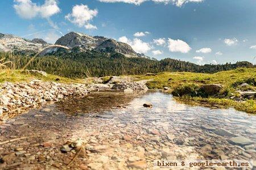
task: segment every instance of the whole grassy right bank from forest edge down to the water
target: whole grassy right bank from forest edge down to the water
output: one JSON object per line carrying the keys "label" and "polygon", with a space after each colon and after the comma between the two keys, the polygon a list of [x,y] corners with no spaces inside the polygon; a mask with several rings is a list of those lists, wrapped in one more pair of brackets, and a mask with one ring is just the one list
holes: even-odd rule
{"label": "whole grassy right bank from forest edge down to the water", "polygon": [[[239,111],[256,114],[256,101],[245,100],[241,102],[230,99],[230,96],[239,96],[236,90],[240,90],[240,84],[248,83],[249,87],[243,90],[256,90],[255,79],[256,69],[240,68],[230,71],[221,71],[214,74],[204,73],[159,73],[134,75],[138,79],[151,79],[147,83],[148,88],[162,89],[164,87],[170,88],[169,92],[183,91],[184,94],[178,99],[189,102],[191,104],[198,104],[200,102],[207,102],[208,104],[221,104],[227,107],[236,108]],[[214,96],[200,96],[197,93],[199,87],[204,84],[222,84],[224,88],[219,94]],[[187,94],[186,94],[187,93]],[[189,94],[189,95],[188,95]]]}

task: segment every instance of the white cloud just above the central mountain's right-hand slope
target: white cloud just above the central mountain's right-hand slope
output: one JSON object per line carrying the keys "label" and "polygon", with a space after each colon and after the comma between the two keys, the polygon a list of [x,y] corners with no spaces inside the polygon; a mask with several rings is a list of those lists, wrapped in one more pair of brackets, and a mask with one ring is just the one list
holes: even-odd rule
{"label": "white cloud just above the central mountain's right-hand slope", "polygon": [[147,53],[149,50],[151,50],[150,44],[148,44],[147,42],[143,42],[142,40],[137,38],[130,40],[126,36],[122,36],[119,37],[118,41],[129,44],[131,48],[133,48],[134,51],[137,53]]}

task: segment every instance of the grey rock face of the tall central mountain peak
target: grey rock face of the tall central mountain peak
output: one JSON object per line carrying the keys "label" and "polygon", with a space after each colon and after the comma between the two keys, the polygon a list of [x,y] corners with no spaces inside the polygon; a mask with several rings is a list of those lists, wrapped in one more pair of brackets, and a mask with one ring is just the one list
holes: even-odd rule
{"label": "grey rock face of the tall central mountain peak", "polygon": [[69,48],[79,47],[81,50],[98,50],[100,52],[117,52],[126,57],[142,57],[137,54],[130,45],[118,42],[113,39],[107,39],[102,36],[88,36],[83,33],[70,32],[61,37],[55,44],[68,46]]}

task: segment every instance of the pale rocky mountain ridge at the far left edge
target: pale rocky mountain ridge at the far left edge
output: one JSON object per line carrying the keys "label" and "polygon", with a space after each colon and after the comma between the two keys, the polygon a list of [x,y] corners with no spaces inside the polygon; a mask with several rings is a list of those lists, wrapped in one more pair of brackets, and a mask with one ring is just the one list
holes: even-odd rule
{"label": "pale rocky mountain ridge at the far left edge", "polygon": [[26,40],[18,36],[0,33],[0,52],[34,54],[49,44],[42,39]]}

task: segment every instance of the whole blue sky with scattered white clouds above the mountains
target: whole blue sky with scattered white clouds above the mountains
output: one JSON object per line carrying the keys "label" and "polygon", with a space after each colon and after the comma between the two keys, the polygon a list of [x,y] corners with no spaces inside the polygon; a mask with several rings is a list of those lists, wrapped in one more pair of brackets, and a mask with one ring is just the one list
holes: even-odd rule
{"label": "whole blue sky with scattered white clouds above the mountains", "polygon": [[0,32],[25,39],[54,44],[74,31],[156,59],[256,64],[255,0],[2,0],[0,7]]}

